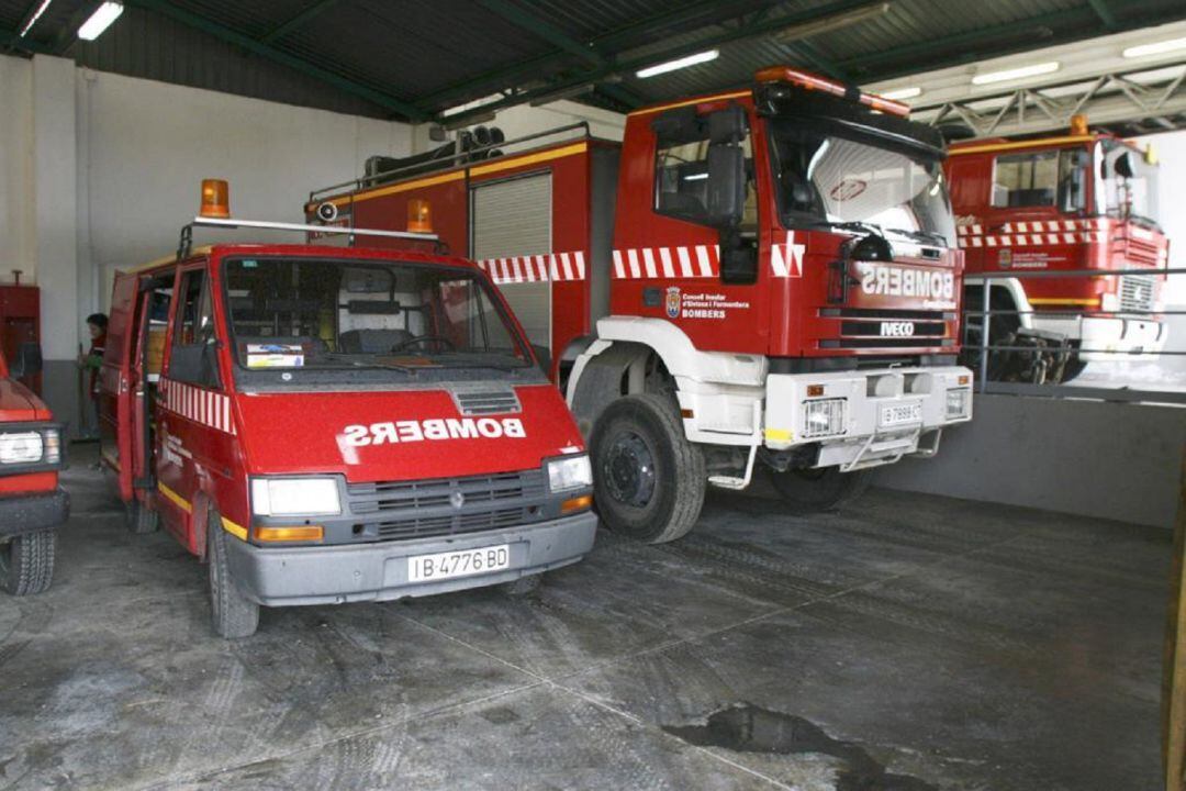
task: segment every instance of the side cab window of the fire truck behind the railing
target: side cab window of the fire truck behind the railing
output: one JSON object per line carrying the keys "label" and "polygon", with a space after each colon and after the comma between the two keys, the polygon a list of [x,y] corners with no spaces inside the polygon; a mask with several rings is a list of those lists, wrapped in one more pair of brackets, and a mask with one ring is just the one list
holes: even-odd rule
{"label": "side cab window of the fire truck behind the railing", "polygon": [[1083,189],[1085,152],[1050,148],[1000,154],[993,167],[990,205],[997,209],[1052,206],[1060,211],[1086,208]]}

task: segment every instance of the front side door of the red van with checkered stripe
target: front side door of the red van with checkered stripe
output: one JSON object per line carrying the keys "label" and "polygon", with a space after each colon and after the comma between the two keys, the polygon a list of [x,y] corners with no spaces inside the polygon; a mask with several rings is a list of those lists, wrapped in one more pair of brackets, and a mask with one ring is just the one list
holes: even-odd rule
{"label": "front side door of the red van with checkered stripe", "polygon": [[165,524],[190,546],[199,489],[196,459],[208,458],[216,441],[216,416],[208,396],[219,388],[210,278],[204,266],[181,272],[173,302],[154,465],[157,487],[168,503],[161,509]]}

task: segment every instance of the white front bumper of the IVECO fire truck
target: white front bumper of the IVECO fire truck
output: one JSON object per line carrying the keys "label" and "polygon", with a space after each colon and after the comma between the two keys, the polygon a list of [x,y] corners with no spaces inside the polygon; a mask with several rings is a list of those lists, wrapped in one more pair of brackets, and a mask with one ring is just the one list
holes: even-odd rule
{"label": "white front bumper of the IVECO fire truck", "polygon": [[971,371],[956,365],[771,374],[764,441],[817,444],[817,467],[875,467],[932,454],[943,428],[971,420]]}

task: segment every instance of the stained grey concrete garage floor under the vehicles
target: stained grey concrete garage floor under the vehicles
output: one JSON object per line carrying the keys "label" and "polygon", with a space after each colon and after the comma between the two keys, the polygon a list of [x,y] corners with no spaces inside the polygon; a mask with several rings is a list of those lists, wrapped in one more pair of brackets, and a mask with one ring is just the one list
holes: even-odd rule
{"label": "stained grey concrete garage floor under the vehicles", "polygon": [[[93,446],[91,446],[93,447]],[[873,490],[713,496],[541,594],[264,611],[132,536],[93,451],[0,598],[0,789],[1153,789],[1169,537]]]}

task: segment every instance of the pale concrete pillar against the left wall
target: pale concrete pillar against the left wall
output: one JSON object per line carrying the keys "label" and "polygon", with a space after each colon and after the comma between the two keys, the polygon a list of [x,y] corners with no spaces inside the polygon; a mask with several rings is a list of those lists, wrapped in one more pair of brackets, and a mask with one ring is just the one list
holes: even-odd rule
{"label": "pale concrete pillar against the left wall", "polygon": [[33,58],[33,257],[42,289],[43,389],[77,435],[78,171],[75,64]]}

